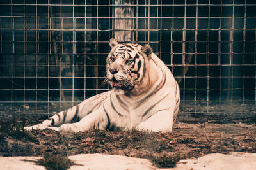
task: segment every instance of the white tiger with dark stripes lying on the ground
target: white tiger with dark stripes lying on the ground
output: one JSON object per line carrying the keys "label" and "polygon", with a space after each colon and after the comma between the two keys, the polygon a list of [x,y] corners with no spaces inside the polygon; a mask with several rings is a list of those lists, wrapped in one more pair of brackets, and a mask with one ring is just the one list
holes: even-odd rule
{"label": "white tiger with dark stripes lying on the ground", "polygon": [[88,129],[171,132],[179,111],[179,85],[150,45],[109,41],[106,80],[112,90],[56,113],[42,124],[25,129],[56,131]]}

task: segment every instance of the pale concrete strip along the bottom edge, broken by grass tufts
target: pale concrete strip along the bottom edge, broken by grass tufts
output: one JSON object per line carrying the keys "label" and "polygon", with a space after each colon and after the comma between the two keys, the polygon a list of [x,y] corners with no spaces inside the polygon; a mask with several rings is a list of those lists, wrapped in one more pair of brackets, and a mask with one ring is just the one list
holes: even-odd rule
{"label": "pale concrete strip along the bottom edge, broken by grass tufts", "polygon": [[[0,157],[0,169],[16,170],[16,169],[45,169],[43,166],[35,164],[35,160],[41,157]],[[134,157],[125,157],[120,155],[102,155],[96,154],[80,154],[70,156],[76,166],[70,167],[71,170],[79,169],[158,169],[147,159]],[[230,154],[213,153],[200,157],[198,159],[180,160],[177,167],[168,168],[172,170],[253,170],[256,169],[256,153],[232,152]]]}

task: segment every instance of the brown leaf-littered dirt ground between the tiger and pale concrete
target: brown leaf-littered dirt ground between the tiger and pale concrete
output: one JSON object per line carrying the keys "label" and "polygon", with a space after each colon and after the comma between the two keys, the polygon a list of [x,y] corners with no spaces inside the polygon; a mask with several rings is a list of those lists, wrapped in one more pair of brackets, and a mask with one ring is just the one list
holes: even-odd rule
{"label": "brown leaf-littered dirt ground between the tiger and pale concrete", "polygon": [[[208,153],[256,153],[256,126],[251,124],[176,123],[172,133],[138,131],[23,131],[20,124],[1,125],[0,155],[76,155],[103,153],[144,157],[164,164]],[[18,130],[17,130],[18,129]],[[161,167],[161,166],[160,166]],[[162,166],[164,167],[164,166]]]}

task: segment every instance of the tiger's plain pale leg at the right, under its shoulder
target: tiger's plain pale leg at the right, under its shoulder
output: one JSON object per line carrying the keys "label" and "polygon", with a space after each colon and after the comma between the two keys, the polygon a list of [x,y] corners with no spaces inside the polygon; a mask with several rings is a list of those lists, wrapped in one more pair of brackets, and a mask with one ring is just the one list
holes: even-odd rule
{"label": "tiger's plain pale leg at the right, under its shoulder", "polygon": [[173,108],[170,108],[167,110],[158,111],[145,122],[141,122],[136,129],[138,131],[147,132],[172,132],[172,127],[177,115],[177,113],[175,113],[173,110]]}

